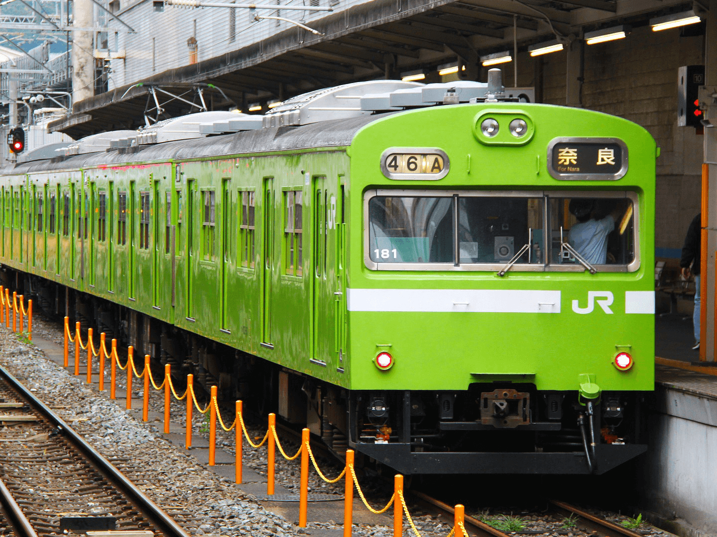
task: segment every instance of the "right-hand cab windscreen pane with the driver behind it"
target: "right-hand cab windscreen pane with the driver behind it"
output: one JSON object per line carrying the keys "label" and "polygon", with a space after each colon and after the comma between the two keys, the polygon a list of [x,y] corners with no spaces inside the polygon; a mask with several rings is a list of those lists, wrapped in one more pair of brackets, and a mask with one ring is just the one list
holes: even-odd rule
{"label": "right-hand cab windscreen pane with the driver behind it", "polygon": [[551,197],[551,263],[625,270],[635,261],[634,211],[633,200],[623,193]]}

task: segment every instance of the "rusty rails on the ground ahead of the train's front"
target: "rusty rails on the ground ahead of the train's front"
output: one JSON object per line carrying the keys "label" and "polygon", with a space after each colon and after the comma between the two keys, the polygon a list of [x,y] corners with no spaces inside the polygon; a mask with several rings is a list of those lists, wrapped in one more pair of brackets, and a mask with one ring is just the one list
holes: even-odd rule
{"label": "rusty rails on the ground ahead of the train's front", "polygon": [[[438,516],[441,516],[445,521],[451,522],[455,513],[454,508],[436,498],[419,492],[410,491],[409,496],[415,503],[421,505],[423,508],[433,511]],[[556,522],[564,521],[567,518],[571,521],[571,531],[564,531],[560,533],[572,533],[576,535],[588,535],[593,537],[644,537],[641,533],[632,531],[628,528],[623,528],[611,521],[605,520],[598,516],[594,516],[586,511],[575,507],[569,503],[551,500],[549,502],[549,508],[547,511],[541,513],[543,516],[547,515],[549,518],[554,519]],[[554,528],[546,528],[543,531],[515,531],[511,533],[505,533],[500,531],[493,526],[481,521],[475,516],[470,516],[466,513],[465,515],[465,528],[471,536],[479,537],[515,537],[516,535],[539,535],[541,533],[553,534]]]}

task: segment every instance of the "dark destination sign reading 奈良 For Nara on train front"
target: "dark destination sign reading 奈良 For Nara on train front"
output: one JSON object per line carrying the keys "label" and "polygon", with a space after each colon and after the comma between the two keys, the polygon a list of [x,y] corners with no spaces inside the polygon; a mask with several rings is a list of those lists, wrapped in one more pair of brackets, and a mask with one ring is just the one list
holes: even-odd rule
{"label": "dark destination sign reading \u5948\u826f For Nara on train front", "polygon": [[627,172],[627,146],[617,138],[553,140],[549,172],[561,180],[616,180]]}

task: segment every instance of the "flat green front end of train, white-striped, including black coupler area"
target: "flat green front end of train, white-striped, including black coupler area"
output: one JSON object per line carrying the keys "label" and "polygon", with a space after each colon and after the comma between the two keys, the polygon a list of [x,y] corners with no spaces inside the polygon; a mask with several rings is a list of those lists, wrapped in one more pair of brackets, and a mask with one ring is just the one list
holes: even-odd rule
{"label": "flat green front end of train, white-striped, including black coupler area", "polygon": [[483,102],[384,117],[350,155],[349,445],[407,474],[604,473],[644,452],[648,132]]}

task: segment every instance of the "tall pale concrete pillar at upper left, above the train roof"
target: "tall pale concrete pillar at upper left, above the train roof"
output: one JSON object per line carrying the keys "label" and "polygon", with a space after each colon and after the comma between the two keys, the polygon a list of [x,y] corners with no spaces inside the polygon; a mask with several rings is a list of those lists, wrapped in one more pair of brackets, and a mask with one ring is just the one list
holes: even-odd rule
{"label": "tall pale concrete pillar at upper left, above the train roof", "polygon": [[[72,26],[92,28],[95,6],[92,0],[75,0]],[[95,57],[92,51],[92,32],[72,31],[72,104],[95,95]]]}

